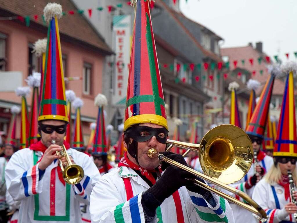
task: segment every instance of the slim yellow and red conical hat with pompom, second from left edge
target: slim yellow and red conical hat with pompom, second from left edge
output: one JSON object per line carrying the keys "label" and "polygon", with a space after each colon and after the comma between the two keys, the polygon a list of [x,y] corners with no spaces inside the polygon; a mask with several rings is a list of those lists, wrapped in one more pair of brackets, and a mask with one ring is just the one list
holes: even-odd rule
{"label": "slim yellow and red conical hat with pompom, second from left edge", "polygon": [[26,96],[30,93],[29,87],[18,87],[15,90],[16,95],[21,97],[21,124],[20,124],[20,149],[28,146],[29,120]]}

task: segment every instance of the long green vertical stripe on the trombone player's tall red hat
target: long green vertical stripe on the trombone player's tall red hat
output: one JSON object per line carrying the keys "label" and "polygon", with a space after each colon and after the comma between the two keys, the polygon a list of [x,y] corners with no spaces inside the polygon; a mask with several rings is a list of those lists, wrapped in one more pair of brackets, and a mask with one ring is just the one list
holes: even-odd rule
{"label": "long green vertical stripe on the trombone player's tall red hat", "polygon": [[[151,71],[151,82],[153,87],[153,96],[154,96],[154,104],[155,104],[155,112],[157,115],[162,116],[161,112],[161,104],[159,95],[159,89],[158,89],[158,82],[157,82],[157,71],[156,71],[156,64],[155,64],[155,56],[154,56],[154,48],[153,48],[153,38],[152,38],[152,31],[151,31],[151,25],[150,25],[150,19],[149,15],[146,13],[146,39],[147,39],[147,48],[148,48],[148,54],[149,54],[149,66]],[[163,99],[162,99],[163,100]]]}

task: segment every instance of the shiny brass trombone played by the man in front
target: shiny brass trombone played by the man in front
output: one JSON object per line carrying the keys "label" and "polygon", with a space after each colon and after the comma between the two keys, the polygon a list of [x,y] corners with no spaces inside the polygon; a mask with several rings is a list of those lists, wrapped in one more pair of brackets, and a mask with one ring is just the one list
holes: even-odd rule
{"label": "shiny brass trombone played by the man in front", "polygon": [[205,174],[167,158],[163,154],[157,153],[157,150],[154,148],[149,149],[147,155],[150,158],[158,158],[161,161],[179,167],[197,177],[203,178],[210,183],[238,195],[247,201],[249,205],[238,201],[236,198],[214,189],[199,180],[194,180],[196,185],[216,193],[226,200],[251,211],[255,214],[255,217],[258,220],[266,222],[266,212],[252,200],[251,197],[240,190],[226,185],[235,183],[243,178],[252,164],[252,142],[249,139],[249,136],[247,136],[241,128],[238,128],[235,125],[219,125],[208,131],[200,144],[179,142],[170,139],[167,139],[167,144],[169,144],[166,149],[167,151],[173,146],[186,149],[187,151],[183,156],[186,156],[190,151],[198,152],[200,165]]}

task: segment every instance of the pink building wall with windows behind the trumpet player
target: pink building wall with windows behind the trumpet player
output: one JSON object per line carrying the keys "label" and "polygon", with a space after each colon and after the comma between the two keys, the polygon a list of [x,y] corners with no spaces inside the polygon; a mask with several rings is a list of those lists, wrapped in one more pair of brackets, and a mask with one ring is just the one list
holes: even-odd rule
{"label": "pink building wall with windows behind the trumpet player", "polygon": [[[29,64],[29,43],[34,43],[40,38],[45,38],[46,34],[37,32],[36,30],[25,27],[12,21],[0,21],[0,30],[7,35],[6,42],[6,71],[20,71],[23,75],[23,86],[27,86],[25,79],[28,74]],[[102,92],[102,72],[104,65],[104,56],[88,51],[87,48],[80,48],[70,42],[61,40],[62,54],[67,56],[67,77],[83,77],[83,62],[92,64],[92,94],[83,95],[83,80],[69,81],[67,89],[72,89],[77,97],[84,101],[84,106],[81,109],[83,116],[96,119],[97,108],[94,106],[94,98],[98,93]],[[12,80],[13,81],[13,80]],[[20,103],[20,98],[15,95],[15,92],[0,92],[0,99],[10,102]],[[27,97],[28,105],[31,104],[31,94]],[[72,111],[74,113],[75,111]],[[20,136],[20,119],[17,124],[17,138]],[[89,124],[83,123],[83,134],[90,134]],[[85,142],[87,144],[87,142]]]}

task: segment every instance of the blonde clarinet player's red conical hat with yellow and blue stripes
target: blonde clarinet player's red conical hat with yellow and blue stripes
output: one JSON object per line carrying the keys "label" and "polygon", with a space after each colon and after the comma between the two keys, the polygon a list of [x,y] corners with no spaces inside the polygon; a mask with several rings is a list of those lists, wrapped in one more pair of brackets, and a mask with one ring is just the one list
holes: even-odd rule
{"label": "blonde clarinet player's red conical hat with yellow and blue stripes", "polygon": [[273,156],[297,157],[293,79],[293,76],[296,77],[297,64],[295,62],[288,62],[282,68],[283,72],[287,74],[287,79],[285,82],[285,92],[282,99],[282,109],[279,116],[279,126],[277,128],[277,139],[274,144]]}

